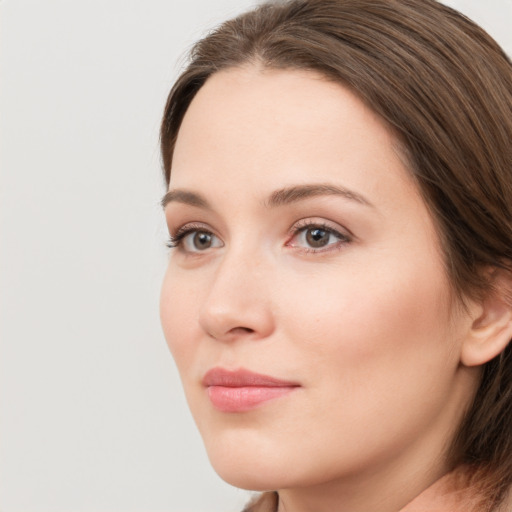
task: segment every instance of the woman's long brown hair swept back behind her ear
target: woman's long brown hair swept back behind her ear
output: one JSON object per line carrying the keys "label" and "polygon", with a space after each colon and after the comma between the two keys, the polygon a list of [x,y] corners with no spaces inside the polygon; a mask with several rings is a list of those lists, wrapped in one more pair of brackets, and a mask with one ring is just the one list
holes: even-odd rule
{"label": "woman's long brown hair swept back behind her ear", "polygon": [[[397,134],[443,244],[459,298],[512,262],[512,64],[435,0],[291,0],[262,5],[199,41],[161,127],[167,183],[185,112],[213,73],[258,62],[315,70],[349,87]],[[510,299],[510,298],[509,298]],[[512,347],[483,367],[451,450],[499,504],[512,484]],[[267,498],[271,499],[271,498]]]}

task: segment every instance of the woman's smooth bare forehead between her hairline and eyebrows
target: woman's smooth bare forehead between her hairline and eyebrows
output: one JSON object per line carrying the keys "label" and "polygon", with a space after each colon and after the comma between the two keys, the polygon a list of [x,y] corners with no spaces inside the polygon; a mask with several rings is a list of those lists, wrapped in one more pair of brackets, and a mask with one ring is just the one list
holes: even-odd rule
{"label": "woman's smooth bare forehead between her hairline and eyebrows", "polygon": [[214,74],[183,119],[170,188],[205,180],[224,193],[311,180],[416,191],[392,132],[351,91],[315,72],[258,67]]}

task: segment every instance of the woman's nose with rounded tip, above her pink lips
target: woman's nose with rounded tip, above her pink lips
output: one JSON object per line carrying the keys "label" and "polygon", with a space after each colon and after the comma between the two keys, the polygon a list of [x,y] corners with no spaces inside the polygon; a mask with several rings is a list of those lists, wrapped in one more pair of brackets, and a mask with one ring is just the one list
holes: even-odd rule
{"label": "woman's nose with rounded tip, above her pink lips", "polygon": [[270,336],[275,329],[270,276],[268,267],[254,255],[224,257],[200,308],[203,331],[225,342]]}

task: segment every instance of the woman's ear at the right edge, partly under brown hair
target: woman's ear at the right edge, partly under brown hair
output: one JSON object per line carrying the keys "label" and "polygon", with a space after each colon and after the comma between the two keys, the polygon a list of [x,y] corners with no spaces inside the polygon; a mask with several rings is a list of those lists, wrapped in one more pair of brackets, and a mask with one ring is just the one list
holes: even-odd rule
{"label": "woman's ear at the right edge, partly under brown hair", "polygon": [[461,362],[479,366],[503,352],[512,339],[512,277],[495,269],[489,293],[479,303],[470,332],[463,342]]}

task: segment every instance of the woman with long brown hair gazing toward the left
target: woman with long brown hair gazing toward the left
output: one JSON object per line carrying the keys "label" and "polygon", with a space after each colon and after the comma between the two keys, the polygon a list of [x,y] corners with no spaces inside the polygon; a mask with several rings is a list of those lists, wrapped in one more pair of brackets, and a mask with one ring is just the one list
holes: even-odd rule
{"label": "woman with long brown hair gazing toward the left", "polygon": [[512,65],[433,0],[264,5],[161,143],[161,316],[251,511],[512,510]]}

